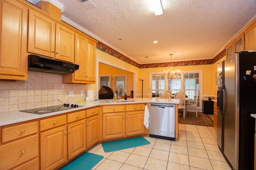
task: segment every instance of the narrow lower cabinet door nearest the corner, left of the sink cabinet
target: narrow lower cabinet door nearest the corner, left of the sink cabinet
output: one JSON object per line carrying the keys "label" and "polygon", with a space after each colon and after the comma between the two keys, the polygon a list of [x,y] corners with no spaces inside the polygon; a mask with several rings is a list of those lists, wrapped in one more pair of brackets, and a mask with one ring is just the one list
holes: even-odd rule
{"label": "narrow lower cabinet door nearest the corner, left of the sink cabinet", "polygon": [[100,116],[86,119],[86,147],[89,148],[100,141]]}

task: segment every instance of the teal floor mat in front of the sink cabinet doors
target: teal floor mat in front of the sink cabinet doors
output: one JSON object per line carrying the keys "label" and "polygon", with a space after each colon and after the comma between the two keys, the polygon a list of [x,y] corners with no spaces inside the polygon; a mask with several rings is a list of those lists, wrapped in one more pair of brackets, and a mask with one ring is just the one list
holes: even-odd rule
{"label": "teal floor mat in front of the sink cabinet doors", "polygon": [[150,142],[147,141],[144,137],[135,137],[130,139],[102,143],[102,147],[104,149],[104,152],[112,152],[115,150],[134,148],[148,144],[150,144]]}

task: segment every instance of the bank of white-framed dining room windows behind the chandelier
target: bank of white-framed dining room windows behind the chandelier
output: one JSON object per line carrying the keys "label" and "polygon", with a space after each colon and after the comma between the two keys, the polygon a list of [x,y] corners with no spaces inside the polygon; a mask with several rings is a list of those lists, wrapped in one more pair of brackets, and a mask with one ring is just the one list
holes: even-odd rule
{"label": "bank of white-framed dining room windows behind the chandelier", "polygon": [[[180,72],[180,76],[177,79],[170,80],[165,78],[164,74],[150,73],[150,82],[152,83],[150,91],[152,91],[152,97],[158,97],[161,92],[171,91],[175,94],[178,91],[184,91],[189,100],[187,103],[194,104],[196,99],[196,93],[202,92],[202,70],[184,71]],[[155,95],[154,95],[155,94]],[[198,97],[198,107],[202,105]]]}

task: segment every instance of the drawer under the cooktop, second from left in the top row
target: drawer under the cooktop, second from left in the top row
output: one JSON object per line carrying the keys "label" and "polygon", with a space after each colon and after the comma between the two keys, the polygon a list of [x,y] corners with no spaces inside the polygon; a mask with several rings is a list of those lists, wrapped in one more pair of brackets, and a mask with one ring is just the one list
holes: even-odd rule
{"label": "drawer under the cooktop, second from left in the top row", "polygon": [[66,115],[40,120],[40,131],[66,124]]}

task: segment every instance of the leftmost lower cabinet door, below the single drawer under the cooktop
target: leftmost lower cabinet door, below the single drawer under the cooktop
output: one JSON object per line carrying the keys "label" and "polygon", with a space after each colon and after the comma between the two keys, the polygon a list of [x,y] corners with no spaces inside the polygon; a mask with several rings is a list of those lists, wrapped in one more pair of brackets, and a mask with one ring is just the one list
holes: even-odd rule
{"label": "leftmost lower cabinet door, below the single drawer under the cooktop", "polygon": [[66,125],[40,133],[42,170],[52,170],[67,161],[66,133]]}

